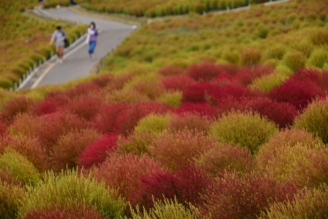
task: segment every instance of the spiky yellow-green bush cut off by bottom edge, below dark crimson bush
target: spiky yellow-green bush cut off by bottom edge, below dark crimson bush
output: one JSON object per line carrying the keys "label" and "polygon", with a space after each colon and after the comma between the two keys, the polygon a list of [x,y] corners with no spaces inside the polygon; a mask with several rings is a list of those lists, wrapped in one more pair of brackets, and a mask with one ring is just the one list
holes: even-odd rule
{"label": "spiky yellow-green bush cut off by bottom edge, below dark crimson bush", "polygon": [[131,208],[133,219],[196,219],[197,208],[193,210],[186,209],[186,207],[178,203],[177,200],[165,199],[163,202],[159,200],[155,202],[154,207],[150,208],[149,212],[145,209],[140,212],[137,207],[136,211]]}

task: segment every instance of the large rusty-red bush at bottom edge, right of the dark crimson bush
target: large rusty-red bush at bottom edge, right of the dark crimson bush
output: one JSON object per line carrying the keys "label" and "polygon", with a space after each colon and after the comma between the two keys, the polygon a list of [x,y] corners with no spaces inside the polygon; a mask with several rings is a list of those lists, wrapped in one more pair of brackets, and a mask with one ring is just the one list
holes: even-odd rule
{"label": "large rusty-red bush at bottom edge, right of the dark crimson bush", "polygon": [[205,195],[200,215],[211,218],[255,218],[271,202],[291,200],[294,184],[281,184],[259,173],[239,176],[227,173],[218,178]]}

